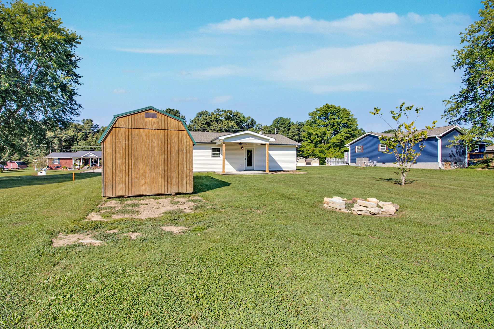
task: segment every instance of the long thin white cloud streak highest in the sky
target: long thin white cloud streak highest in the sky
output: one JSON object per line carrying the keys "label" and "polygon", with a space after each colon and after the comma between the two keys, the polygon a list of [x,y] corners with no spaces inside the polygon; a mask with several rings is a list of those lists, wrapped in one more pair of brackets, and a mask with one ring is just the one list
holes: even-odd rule
{"label": "long thin white cloud streak highest in the sky", "polygon": [[415,13],[409,13],[405,16],[399,16],[394,12],[376,12],[371,14],[356,13],[342,19],[327,21],[324,19],[314,19],[310,16],[298,17],[289,16],[275,18],[242,19],[232,18],[220,23],[210,23],[202,28],[201,32],[219,32],[219,33],[238,33],[251,31],[289,31],[301,33],[355,33],[376,30],[384,27],[400,24],[446,24],[459,23],[463,24],[468,21],[465,15],[425,15],[421,16]]}

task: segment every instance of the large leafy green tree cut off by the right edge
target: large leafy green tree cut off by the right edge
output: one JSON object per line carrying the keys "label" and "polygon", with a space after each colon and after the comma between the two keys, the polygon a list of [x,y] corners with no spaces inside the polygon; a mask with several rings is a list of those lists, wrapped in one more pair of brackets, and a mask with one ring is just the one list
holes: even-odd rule
{"label": "large leafy green tree cut off by the right edge", "polygon": [[463,71],[463,88],[444,103],[450,124],[465,124],[468,144],[494,137],[494,4],[482,1],[480,20],[460,33],[463,48],[456,50],[453,70]]}

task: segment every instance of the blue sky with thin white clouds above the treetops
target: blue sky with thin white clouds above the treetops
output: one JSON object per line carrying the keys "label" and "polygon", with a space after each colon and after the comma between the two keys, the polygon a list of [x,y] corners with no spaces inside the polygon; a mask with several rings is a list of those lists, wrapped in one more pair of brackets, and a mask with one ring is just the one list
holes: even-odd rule
{"label": "blue sky with thin white clouds above the treetops", "polygon": [[84,40],[81,118],[153,105],[191,119],[239,110],[270,124],[307,119],[326,103],[369,114],[401,102],[424,107],[417,126],[443,125],[442,100],[461,86],[453,72],[459,32],[480,1],[56,1]]}

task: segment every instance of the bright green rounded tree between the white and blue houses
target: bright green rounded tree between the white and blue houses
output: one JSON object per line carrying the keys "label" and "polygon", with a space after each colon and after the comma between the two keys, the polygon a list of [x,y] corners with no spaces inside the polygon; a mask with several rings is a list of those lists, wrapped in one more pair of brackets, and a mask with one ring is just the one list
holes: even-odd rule
{"label": "bright green rounded tree between the white and blue houses", "polygon": [[364,133],[350,110],[326,104],[309,113],[302,133],[299,155],[318,157],[325,163],[326,157],[343,157],[345,146]]}

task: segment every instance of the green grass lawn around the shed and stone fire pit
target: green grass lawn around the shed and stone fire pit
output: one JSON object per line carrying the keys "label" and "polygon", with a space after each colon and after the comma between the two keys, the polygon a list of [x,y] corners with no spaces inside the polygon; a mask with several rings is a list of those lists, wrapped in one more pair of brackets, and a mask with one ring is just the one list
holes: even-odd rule
{"label": "green grass lawn around the shed and stone fire pit", "polygon": [[[494,327],[492,171],[417,169],[403,187],[393,168],[305,170],[196,174],[195,213],[110,221],[83,221],[100,174],[0,174],[0,327]],[[400,215],[325,210],[333,195]],[[104,244],[51,246],[87,231]]]}

